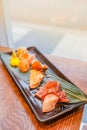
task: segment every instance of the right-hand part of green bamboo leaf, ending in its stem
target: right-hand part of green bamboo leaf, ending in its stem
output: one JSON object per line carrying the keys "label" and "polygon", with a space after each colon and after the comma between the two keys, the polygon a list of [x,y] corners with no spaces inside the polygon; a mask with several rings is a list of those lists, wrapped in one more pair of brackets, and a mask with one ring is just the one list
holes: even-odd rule
{"label": "right-hand part of green bamboo leaf, ending in its stem", "polygon": [[78,102],[87,102],[87,97],[85,96],[85,94],[75,85],[61,79],[60,77],[58,77],[55,74],[51,74],[49,72],[47,72],[47,77],[49,79],[53,79],[56,81],[59,81],[61,83],[61,87],[62,89],[65,90],[70,103],[78,103]]}

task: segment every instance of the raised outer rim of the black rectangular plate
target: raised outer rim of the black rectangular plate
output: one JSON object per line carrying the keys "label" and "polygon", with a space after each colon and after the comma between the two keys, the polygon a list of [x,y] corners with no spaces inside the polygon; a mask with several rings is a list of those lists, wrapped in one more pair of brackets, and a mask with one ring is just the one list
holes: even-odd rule
{"label": "raised outer rim of the black rectangular plate", "polygon": [[[43,57],[43,58],[46,60],[46,62],[48,62],[48,64],[51,64],[52,67],[55,69],[55,71],[56,71],[56,70],[59,71],[59,73],[61,74],[61,76],[63,76],[66,81],[68,81],[69,83],[75,85],[75,84],[74,84],[73,82],[71,82],[58,68],[56,68],[35,46],[31,46],[31,47],[28,47],[28,48],[27,48],[28,51],[31,50],[31,49],[32,49],[33,51],[36,51],[36,53],[40,54],[41,57]],[[9,52],[5,52],[4,54],[11,54],[11,53],[12,53],[12,51],[9,51]],[[25,92],[24,92],[24,90],[23,90],[23,88],[22,88],[22,85],[21,85],[20,82],[18,81],[17,77],[16,77],[16,76],[14,75],[14,73],[7,67],[7,65],[6,65],[6,63],[5,63],[5,61],[3,60],[3,58],[2,58],[1,55],[0,55],[0,58],[1,58],[1,61],[3,62],[3,64],[4,64],[4,66],[5,66],[6,69],[8,70],[9,74],[11,75],[11,77],[13,78],[13,80],[15,81],[17,87],[18,87],[19,90],[21,91],[21,93],[22,93],[23,97],[25,98],[26,102],[27,102],[28,105],[30,106],[31,110],[34,112],[34,115],[35,115],[35,117],[38,119],[38,121],[40,121],[40,122],[48,122],[48,121],[50,121],[50,120],[53,120],[53,119],[55,119],[55,118],[57,118],[57,117],[60,117],[61,115],[64,115],[64,114],[66,114],[66,113],[68,113],[68,112],[74,110],[75,108],[78,108],[78,107],[80,107],[81,105],[84,105],[84,104],[85,104],[84,102],[79,102],[79,103],[75,104],[73,107],[70,107],[70,108],[68,108],[68,109],[66,109],[66,110],[64,110],[64,111],[62,111],[62,112],[60,112],[60,113],[58,113],[58,115],[53,115],[52,117],[49,117],[49,118],[47,118],[47,119],[41,118],[41,117],[38,115],[38,113],[35,111],[35,108],[32,106],[32,104],[31,104],[29,98],[28,98],[27,95],[25,94]],[[76,85],[75,85],[75,86],[76,86]],[[77,87],[77,86],[76,86],[76,87]],[[80,88],[79,88],[79,89],[80,89]],[[80,90],[81,90],[81,89],[80,89]],[[82,91],[82,90],[81,90],[81,91]],[[82,91],[82,92],[83,92],[83,91]],[[83,92],[83,93],[84,93],[84,92]],[[84,95],[85,95],[85,93],[84,93]],[[86,95],[85,95],[85,96],[86,96]]]}

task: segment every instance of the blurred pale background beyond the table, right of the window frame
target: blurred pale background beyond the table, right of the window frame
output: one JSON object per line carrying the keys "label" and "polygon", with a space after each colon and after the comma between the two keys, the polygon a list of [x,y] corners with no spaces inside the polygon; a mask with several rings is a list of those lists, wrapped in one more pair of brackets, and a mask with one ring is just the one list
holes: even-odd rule
{"label": "blurred pale background beyond the table, right of the window frame", "polygon": [[87,0],[8,0],[14,48],[87,61]]}

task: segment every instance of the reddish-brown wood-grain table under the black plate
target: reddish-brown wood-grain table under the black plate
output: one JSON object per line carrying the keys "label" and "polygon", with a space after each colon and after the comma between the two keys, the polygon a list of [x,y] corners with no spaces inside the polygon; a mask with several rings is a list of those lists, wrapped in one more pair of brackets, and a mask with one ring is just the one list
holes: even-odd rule
{"label": "reddish-brown wood-grain table under the black plate", "polygon": [[[9,50],[11,49],[0,47],[0,51]],[[87,94],[86,62],[54,56],[47,58]],[[49,123],[38,122],[0,61],[0,130],[79,130],[83,107]]]}

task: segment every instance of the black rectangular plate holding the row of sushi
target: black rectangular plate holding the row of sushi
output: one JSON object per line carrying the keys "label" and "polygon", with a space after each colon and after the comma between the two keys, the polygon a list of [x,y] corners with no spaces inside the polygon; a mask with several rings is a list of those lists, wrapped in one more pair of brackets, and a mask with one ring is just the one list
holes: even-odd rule
{"label": "black rectangular plate holding the row of sushi", "polygon": [[[29,53],[35,54],[36,58],[40,60],[42,63],[46,64],[48,66],[48,69],[51,73],[58,75],[60,78],[68,81],[69,83],[72,83],[67,77],[65,77],[37,48],[35,47],[29,47],[27,48]],[[11,55],[12,52],[8,52],[5,54]],[[7,70],[9,71],[10,75],[16,82],[19,90],[22,92],[24,98],[26,99],[27,103],[31,107],[33,113],[35,114],[36,118],[40,122],[47,122],[50,121],[54,118],[60,117],[75,108],[81,106],[84,103],[78,103],[78,104],[72,104],[72,105],[65,105],[65,106],[57,106],[53,111],[48,112],[48,113],[43,113],[42,112],[42,102],[34,96],[35,92],[37,89],[30,90],[29,89],[29,84],[17,77],[13,71],[7,66],[5,60],[1,56],[1,60]],[[72,83],[73,84],[73,83]],[[74,85],[74,84],[73,84]]]}

